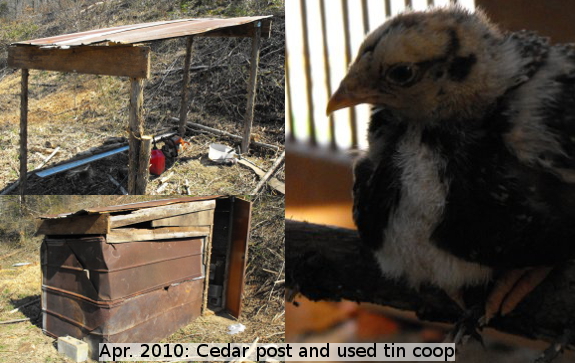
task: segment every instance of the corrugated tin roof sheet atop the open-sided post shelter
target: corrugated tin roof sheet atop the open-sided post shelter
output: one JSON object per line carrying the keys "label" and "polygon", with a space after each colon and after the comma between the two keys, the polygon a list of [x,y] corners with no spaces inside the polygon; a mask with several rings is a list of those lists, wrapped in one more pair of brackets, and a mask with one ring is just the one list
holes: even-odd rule
{"label": "corrugated tin roof sheet atop the open-sided post shelter", "polygon": [[193,34],[202,34],[216,29],[255,23],[267,18],[271,18],[271,15],[244,16],[228,19],[201,18],[158,21],[57,35],[49,38],[26,40],[15,44],[59,47],[90,45],[103,42],[133,44]]}

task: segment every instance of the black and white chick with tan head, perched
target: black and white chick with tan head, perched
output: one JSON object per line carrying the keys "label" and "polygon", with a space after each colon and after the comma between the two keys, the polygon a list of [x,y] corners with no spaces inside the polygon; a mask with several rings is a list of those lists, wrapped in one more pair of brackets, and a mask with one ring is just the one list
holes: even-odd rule
{"label": "black and white chick with tan head, perched", "polygon": [[575,51],[461,7],[369,34],[327,113],[373,105],[354,219],[384,275],[505,315],[575,257]]}

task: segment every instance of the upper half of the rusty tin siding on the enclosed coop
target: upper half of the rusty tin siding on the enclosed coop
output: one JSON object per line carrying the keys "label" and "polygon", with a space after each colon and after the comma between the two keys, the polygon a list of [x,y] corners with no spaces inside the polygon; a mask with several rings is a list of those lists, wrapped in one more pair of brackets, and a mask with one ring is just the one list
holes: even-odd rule
{"label": "upper half of the rusty tin siding on the enclosed coop", "polygon": [[202,242],[192,238],[109,244],[104,237],[47,238],[43,284],[92,300],[127,298],[203,277]]}

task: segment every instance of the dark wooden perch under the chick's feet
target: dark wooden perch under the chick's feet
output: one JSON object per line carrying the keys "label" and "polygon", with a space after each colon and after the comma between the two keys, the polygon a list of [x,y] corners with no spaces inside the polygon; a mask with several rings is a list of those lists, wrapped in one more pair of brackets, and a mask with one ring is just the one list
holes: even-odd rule
{"label": "dark wooden perch under the chick's feet", "polygon": [[[286,286],[294,292],[316,301],[346,299],[411,310],[422,320],[454,323],[460,317],[443,291],[432,286],[415,291],[404,281],[382,277],[356,231],[291,220],[285,228]],[[575,322],[573,286],[575,261],[558,266],[512,313],[494,318],[489,326],[527,338],[559,340]]]}

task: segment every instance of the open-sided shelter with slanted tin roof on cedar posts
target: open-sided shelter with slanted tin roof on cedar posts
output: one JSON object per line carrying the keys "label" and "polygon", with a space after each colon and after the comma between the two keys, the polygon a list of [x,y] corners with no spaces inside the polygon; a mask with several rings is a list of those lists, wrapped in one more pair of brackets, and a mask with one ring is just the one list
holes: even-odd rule
{"label": "open-sided shelter with slanted tin roof on cedar posts", "polygon": [[150,77],[150,47],[146,43],[187,38],[179,133],[184,136],[188,113],[188,83],[194,37],[252,38],[250,78],[244,119],[242,153],[248,151],[257,84],[261,38],[271,34],[272,16],[178,19],[124,25],[58,35],[11,44],[8,65],[22,69],[20,101],[20,194],[26,193],[28,174],[28,76],[30,69],[124,76],[130,78],[128,193],[145,194],[152,138],[145,134],[144,81]]}

